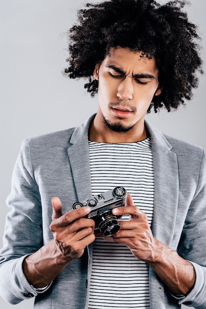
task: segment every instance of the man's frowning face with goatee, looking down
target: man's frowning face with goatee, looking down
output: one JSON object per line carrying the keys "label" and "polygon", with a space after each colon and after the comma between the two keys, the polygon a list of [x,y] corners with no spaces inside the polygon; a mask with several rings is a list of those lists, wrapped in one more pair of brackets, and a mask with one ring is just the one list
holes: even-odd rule
{"label": "man's frowning face with goatee, looking down", "polygon": [[154,95],[161,93],[155,59],[129,48],[111,48],[94,77],[99,80],[97,116],[116,132],[142,125]]}

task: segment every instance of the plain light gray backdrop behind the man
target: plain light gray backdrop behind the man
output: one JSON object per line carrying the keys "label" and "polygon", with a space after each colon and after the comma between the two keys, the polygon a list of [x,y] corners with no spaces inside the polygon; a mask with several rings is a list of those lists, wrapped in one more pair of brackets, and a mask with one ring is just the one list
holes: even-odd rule
{"label": "plain light gray backdrop behind the man", "polygon": [[[64,33],[75,21],[76,8],[82,3],[83,0],[0,1],[0,247],[8,211],[5,198],[23,139],[76,126],[97,110],[97,98],[86,93],[84,81],[61,75],[68,56]],[[206,59],[206,1],[191,0],[187,11],[190,20],[199,25]],[[205,99],[203,76],[185,108],[173,113],[152,113],[147,119],[162,132],[206,148]],[[0,298],[0,308],[30,309],[33,302],[32,299],[12,306]]]}

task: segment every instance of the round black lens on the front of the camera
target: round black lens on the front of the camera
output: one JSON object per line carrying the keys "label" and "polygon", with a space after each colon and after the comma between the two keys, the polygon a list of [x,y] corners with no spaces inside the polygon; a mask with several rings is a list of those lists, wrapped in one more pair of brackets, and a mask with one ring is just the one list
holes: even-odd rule
{"label": "round black lens on the front of the camera", "polygon": [[110,211],[104,212],[95,219],[96,226],[105,237],[112,236],[120,229],[117,217]]}

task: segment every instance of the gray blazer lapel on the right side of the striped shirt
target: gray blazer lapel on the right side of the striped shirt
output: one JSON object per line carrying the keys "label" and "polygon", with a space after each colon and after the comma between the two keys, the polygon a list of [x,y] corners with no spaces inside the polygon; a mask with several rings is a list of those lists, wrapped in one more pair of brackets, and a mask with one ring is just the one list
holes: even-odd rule
{"label": "gray blazer lapel on the right side of the striped shirt", "polygon": [[154,164],[154,237],[172,245],[178,204],[178,165],[176,154],[165,136],[146,122],[152,140]]}

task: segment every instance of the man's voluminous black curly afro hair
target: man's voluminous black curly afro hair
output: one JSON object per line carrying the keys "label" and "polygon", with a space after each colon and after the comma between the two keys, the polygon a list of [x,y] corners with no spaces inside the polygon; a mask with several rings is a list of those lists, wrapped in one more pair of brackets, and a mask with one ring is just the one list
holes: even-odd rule
{"label": "man's voluminous black curly afro hair", "polygon": [[98,81],[93,72],[112,47],[127,47],[155,57],[162,92],[154,96],[152,106],[157,112],[168,112],[190,100],[198,86],[197,73],[203,73],[197,26],[188,21],[182,8],[186,0],[173,0],[160,5],[154,0],[107,0],[85,4],[78,11],[78,21],[68,31],[70,78],[88,77],[87,91],[94,96]]}

